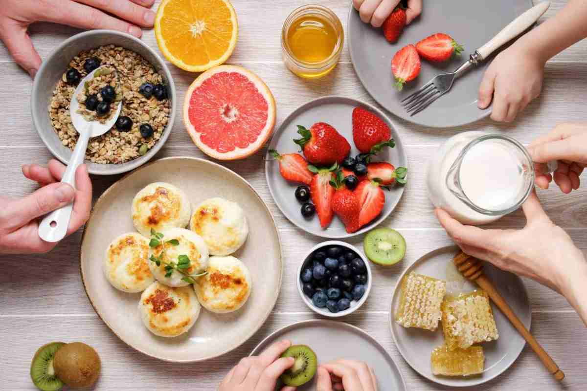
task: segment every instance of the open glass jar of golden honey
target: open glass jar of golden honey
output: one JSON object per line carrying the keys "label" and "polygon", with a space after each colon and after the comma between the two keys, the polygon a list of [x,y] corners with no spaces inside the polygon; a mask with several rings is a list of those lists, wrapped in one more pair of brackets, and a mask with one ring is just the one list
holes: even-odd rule
{"label": "open glass jar of golden honey", "polygon": [[336,14],[321,5],[304,5],[290,13],[281,30],[285,66],[315,79],[328,74],[342,53],[345,33]]}

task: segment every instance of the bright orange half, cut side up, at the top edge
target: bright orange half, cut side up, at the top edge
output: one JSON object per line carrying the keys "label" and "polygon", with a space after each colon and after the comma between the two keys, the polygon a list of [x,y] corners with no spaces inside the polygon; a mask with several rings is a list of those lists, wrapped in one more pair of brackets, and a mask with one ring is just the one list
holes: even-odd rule
{"label": "bright orange half, cut side up, at the top edge", "polygon": [[155,18],[163,55],[189,72],[224,63],[237,43],[237,14],[228,0],[163,0]]}

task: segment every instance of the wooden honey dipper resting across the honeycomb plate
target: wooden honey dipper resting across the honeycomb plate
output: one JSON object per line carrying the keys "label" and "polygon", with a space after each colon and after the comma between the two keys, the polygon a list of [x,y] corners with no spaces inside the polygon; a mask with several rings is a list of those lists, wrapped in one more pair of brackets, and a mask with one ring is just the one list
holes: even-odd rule
{"label": "wooden honey dipper resting across the honeycomb plate", "polygon": [[457,254],[453,261],[457,266],[458,271],[460,271],[463,276],[471,281],[475,281],[475,283],[487,292],[495,305],[497,305],[501,312],[510,319],[511,324],[514,325],[519,334],[524,337],[526,342],[528,342],[528,345],[530,345],[532,350],[538,355],[538,358],[542,361],[546,369],[548,369],[548,372],[552,373],[552,376],[554,376],[556,380],[561,381],[564,379],[565,373],[558,368],[558,365],[552,360],[551,356],[546,353],[534,336],[532,336],[532,334],[530,334],[530,332],[524,327],[524,324],[522,324],[522,321],[519,320],[516,314],[514,314],[510,305],[508,305],[498,291],[495,290],[493,283],[491,283],[491,281],[483,274],[483,262],[462,252]]}

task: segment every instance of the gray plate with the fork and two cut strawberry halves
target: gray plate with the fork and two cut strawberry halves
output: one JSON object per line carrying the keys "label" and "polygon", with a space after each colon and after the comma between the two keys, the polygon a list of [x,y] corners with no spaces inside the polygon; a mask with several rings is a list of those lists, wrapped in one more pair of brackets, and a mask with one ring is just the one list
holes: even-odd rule
{"label": "gray plate with the fork and two cut strawberry halves", "polygon": [[[477,107],[477,91],[491,58],[455,81],[453,88],[426,110],[410,117],[400,100],[426,84],[439,73],[452,72],[469,55],[497,34],[518,15],[532,6],[529,0],[426,1],[419,18],[406,26],[398,42],[390,44],[382,29],[363,23],[350,5],[348,22],[349,51],[355,72],[369,94],[384,108],[404,120],[430,127],[459,126],[491,114],[491,107]],[[403,46],[433,35],[447,33],[465,50],[446,63],[422,61],[420,76],[399,92],[393,87],[392,58]]]}

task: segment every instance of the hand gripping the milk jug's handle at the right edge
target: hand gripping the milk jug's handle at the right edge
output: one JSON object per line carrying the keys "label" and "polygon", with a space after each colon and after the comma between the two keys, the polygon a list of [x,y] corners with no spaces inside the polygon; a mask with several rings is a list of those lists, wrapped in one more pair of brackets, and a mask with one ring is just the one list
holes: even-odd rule
{"label": "hand gripping the milk jug's handle at the right edge", "polygon": [[[583,169],[587,167],[587,123],[559,124],[549,133],[537,138],[528,146],[528,152],[536,163],[536,185],[548,189],[554,182],[563,193],[579,189]],[[558,168],[551,175],[546,163],[558,161]]]}

